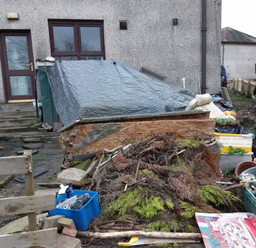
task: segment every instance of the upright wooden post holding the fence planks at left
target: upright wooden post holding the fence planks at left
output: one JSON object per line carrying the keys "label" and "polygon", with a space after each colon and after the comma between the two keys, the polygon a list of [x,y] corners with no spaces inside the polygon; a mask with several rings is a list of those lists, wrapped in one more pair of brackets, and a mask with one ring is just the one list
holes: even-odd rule
{"label": "upright wooden post holding the fence planks at left", "polygon": [[[33,160],[32,160],[32,150],[25,150],[24,154],[25,156],[28,156],[30,158],[30,164],[31,164],[31,172],[25,174],[25,181],[26,181],[26,195],[27,196],[34,196],[35,190],[34,190],[34,175],[33,175]],[[28,217],[28,226],[30,231],[37,230],[37,217],[36,212],[29,212],[27,214]]]}

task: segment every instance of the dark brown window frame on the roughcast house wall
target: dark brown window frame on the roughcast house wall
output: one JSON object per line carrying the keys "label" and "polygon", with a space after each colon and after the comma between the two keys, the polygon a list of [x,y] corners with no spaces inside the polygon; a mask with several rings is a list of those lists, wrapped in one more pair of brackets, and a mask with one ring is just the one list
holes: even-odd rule
{"label": "dark brown window frame on the roughcast house wall", "polygon": [[[103,21],[89,21],[89,20],[48,20],[49,25],[49,36],[50,36],[50,47],[52,56],[77,56],[77,60],[81,59],[81,56],[103,56],[105,59],[105,44],[104,44],[104,27]],[[54,36],[53,26],[73,26],[74,27],[74,40],[75,40],[75,51],[55,51],[54,47]],[[85,52],[81,49],[81,35],[80,27],[99,27],[100,28],[100,40],[102,51],[90,51]]]}

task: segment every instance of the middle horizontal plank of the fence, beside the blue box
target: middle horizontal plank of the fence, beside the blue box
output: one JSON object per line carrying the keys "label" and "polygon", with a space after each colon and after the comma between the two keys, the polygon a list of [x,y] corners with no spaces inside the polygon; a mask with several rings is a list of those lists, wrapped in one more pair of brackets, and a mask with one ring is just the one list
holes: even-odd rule
{"label": "middle horizontal plank of the fence, beside the blue box", "polygon": [[0,215],[16,215],[55,209],[56,195],[0,198]]}

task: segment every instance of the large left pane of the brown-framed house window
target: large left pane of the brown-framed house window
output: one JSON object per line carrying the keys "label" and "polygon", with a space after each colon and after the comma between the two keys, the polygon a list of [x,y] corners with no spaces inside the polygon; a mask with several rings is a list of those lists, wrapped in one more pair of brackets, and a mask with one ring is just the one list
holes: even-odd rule
{"label": "large left pane of the brown-framed house window", "polygon": [[74,28],[53,27],[55,51],[75,51]]}

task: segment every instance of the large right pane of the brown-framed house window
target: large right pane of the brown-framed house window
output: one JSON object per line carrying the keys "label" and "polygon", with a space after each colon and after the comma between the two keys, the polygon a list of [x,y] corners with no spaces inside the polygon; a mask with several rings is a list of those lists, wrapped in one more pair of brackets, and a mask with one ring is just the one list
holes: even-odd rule
{"label": "large right pane of the brown-framed house window", "polygon": [[80,27],[82,51],[102,51],[99,27]]}

